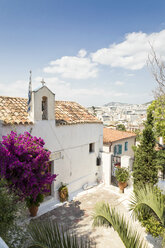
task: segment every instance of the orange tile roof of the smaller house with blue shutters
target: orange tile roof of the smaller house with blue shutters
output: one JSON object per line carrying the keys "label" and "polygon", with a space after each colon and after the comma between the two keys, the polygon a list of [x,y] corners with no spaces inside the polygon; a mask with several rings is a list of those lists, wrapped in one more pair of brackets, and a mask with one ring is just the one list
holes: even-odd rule
{"label": "orange tile roof of the smaller house with blue shutters", "polygon": [[132,132],[125,132],[125,131],[118,131],[111,128],[104,128],[103,129],[103,143],[108,144],[110,142],[128,139],[131,137],[136,137],[135,133]]}

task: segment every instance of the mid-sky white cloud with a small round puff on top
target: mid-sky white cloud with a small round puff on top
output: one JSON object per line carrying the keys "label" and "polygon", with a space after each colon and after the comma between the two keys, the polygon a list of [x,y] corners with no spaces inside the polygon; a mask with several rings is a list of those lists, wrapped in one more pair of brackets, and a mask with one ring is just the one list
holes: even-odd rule
{"label": "mid-sky white cloud with a small round puff on top", "polygon": [[92,62],[90,58],[85,58],[85,50],[80,50],[79,57],[64,56],[55,61],[51,61],[48,67],[44,68],[44,72],[51,74],[59,74],[63,78],[87,79],[95,78],[98,74],[97,64]]}

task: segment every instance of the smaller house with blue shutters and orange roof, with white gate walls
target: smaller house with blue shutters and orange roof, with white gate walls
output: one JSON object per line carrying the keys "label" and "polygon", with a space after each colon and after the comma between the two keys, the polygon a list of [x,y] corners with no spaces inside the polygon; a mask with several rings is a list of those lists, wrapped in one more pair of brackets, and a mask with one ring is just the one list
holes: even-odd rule
{"label": "smaller house with blue shutters and orange roof, with white gate walls", "polygon": [[103,175],[105,184],[117,184],[115,170],[118,166],[132,170],[136,134],[104,128],[103,131]]}

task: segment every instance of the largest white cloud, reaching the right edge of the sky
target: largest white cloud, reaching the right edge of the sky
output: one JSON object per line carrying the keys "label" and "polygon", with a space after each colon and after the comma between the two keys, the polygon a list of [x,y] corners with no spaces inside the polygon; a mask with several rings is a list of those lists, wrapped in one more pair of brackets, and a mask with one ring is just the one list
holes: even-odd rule
{"label": "largest white cloud, reaching the right edge of the sky", "polygon": [[94,62],[121,67],[130,70],[140,70],[146,65],[150,44],[157,53],[165,55],[165,30],[159,33],[146,34],[142,32],[129,33],[121,43],[114,43],[109,48],[101,48],[91,54]]}

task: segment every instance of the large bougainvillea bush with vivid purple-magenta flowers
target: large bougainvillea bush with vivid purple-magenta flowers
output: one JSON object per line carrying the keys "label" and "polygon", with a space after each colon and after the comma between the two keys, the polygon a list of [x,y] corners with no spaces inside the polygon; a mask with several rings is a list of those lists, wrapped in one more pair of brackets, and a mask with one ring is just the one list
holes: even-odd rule
{"label": "large bougainvillea bush with vivid purple-magenta flowers", "polygon": [[48,172],[50,152],[44,148],[41,138],[30,133],[11,132],[0,143],[0,173],[8,187],[21,200],[36,200],[39,194],[48,192],[48,184],[57,175]]}

